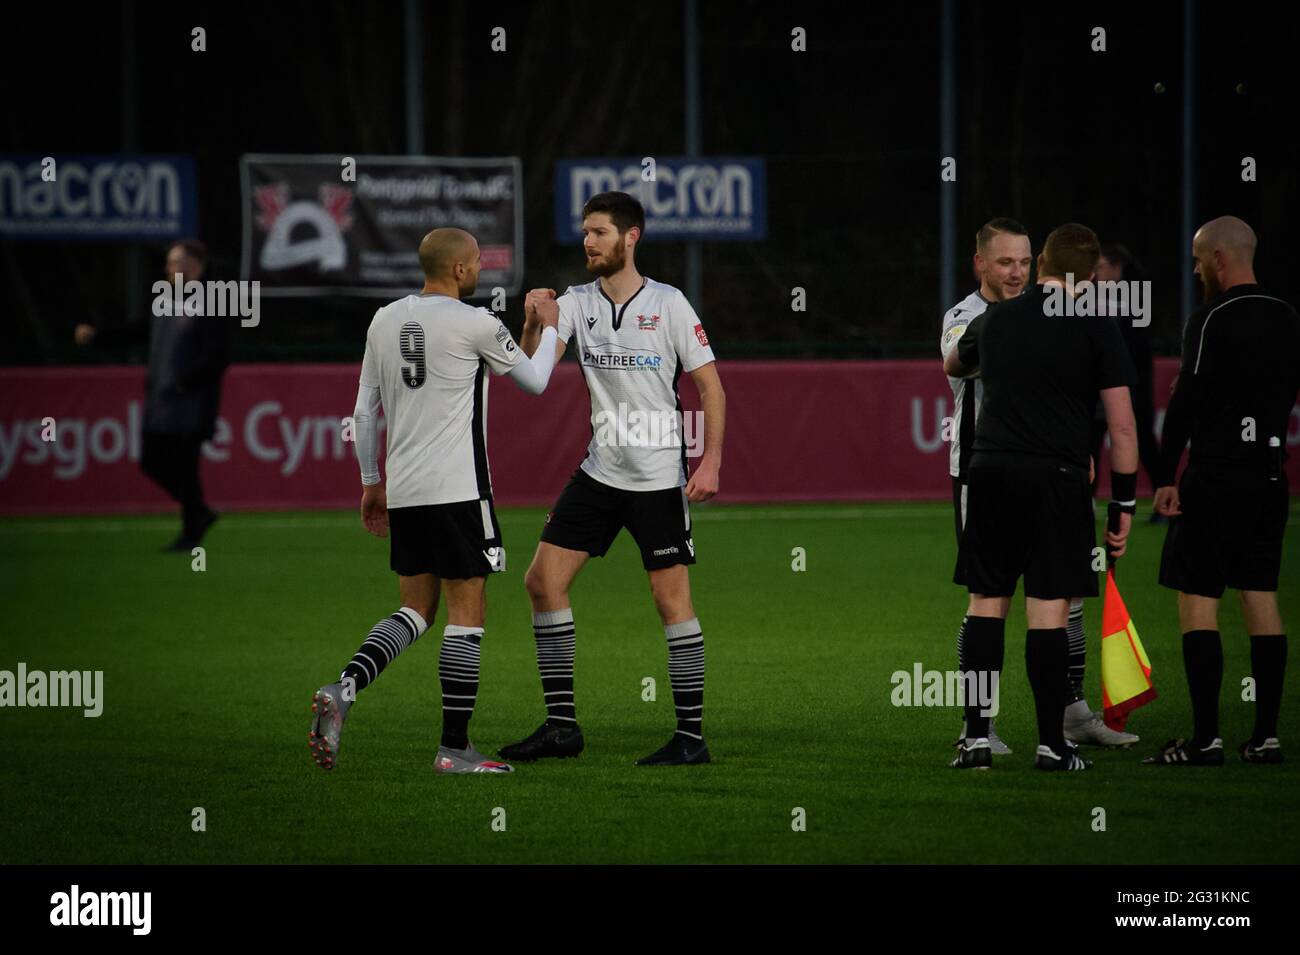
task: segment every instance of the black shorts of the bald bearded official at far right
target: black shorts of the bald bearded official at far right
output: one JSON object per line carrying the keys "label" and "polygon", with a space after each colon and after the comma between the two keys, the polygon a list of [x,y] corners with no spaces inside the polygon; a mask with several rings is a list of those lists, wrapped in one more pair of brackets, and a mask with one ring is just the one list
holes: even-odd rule
{"label": "black shorts of the bald bearded official at far right", "polygon": [[1188,465],[1178,482],[1179,509],[1169,522],[1160,582],[1183,594],[1223,596],[1278,589],[1290,509],[1287,477]]}

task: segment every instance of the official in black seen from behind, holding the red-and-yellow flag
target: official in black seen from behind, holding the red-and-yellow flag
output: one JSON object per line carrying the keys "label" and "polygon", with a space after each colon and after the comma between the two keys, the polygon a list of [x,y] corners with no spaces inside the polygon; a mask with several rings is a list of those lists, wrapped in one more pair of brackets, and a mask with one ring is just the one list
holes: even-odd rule
{"label": "official in black seen from behind, holding the red-and-yellow flag", "polygon": [[[976,316],[944,359],[948,374],[979,368],[984,382],[954,574],[971,591],[962,670],[985,681],[980,674],[1002,657],[1006,613],[1023,576],[1024,663],[1037,712],[1039,769],[1092,765],[1066,743],[1061,712],[1067,702],[1070,598],[1097,595],[1088,461],[1098,394],[1110,430],[1110,507],[1121,511],[1119,531],[1106,533],[1117,557],[1124,552],[1135,509],[1132,364],[1113,321],[1063,313],[1075,283],[1092,281],[1098,252],[1087,226],[1071,222],[1054,230],[1039,255],[1037,286]],[[954,768],[992,765],[988,709],[982,709],[980,700],[967,700],[966,742]]]}

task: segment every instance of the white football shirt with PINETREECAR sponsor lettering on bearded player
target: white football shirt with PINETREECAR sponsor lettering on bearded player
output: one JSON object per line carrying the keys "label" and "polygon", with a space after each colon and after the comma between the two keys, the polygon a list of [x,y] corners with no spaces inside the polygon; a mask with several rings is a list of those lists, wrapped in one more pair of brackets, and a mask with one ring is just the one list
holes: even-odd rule
{"label": "white football shirt with PINETREECAR sponsor lettering on bearded player", "polygon": [[592,399],[582,470],[625,491],[685,485],[677,378],[714,360],[696,309],[651,278],[621,305],[599,281],[569,286],[558,301],[559,340],[573,339]]}

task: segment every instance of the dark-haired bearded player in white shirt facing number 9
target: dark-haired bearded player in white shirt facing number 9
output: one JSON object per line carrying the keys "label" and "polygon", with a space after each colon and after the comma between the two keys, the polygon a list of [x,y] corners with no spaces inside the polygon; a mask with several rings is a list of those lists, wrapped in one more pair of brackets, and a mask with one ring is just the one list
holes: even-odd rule
{"label": "dark-haired bearded player in white shirt facing number 9", "polygon": [[[690,600],[688,567],[696,563],[692,502],[718,492],[725,399],[708,337],[686,296],[644,278],[636,246],[645,209],[625,192],[603,192],[582,209],[588,272],[597,277],[559,296],[559,343],[572,339],[592,399],[592,442],[546,518],[524,582],[533,605],[537,668],[546,722],[526,739],[502,748],[503,759],[576,756],[582,732],[573,707],[573,611],[569,586],[589,557],[603,556],[624,528],[641,550],[659,618],[668,641],[668,677],[677,728],[666,746],[638,765],[707,763],[703,738],[705,638]],[[552,290],[525,301],[520,343],[537,340],[541,313]],[[677,378],[685,372],[699,388],[703,456],[686,468],[686,442]]]}

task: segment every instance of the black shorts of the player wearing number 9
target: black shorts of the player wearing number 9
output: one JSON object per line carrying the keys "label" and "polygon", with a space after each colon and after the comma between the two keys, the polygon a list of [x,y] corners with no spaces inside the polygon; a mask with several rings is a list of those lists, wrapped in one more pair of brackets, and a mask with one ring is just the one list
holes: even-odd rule
{"label": "black shorts of the player wearing number 9", "polygon": [[389,508],[389,567],[459,581],[506,569],[491,498]]}

